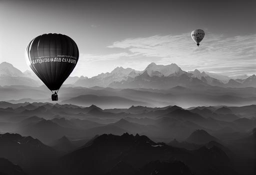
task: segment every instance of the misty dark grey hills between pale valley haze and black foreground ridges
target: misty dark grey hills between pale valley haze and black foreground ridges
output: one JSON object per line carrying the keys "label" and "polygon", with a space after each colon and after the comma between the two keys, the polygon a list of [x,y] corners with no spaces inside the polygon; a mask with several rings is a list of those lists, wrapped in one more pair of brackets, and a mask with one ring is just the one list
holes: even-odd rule
{"label": "misty dark grey hills between pale valley haze and black foreground ridges", "polygon": [[[101,109],[96,105],[83,107],[48,102],[2,101],[0,132],[16,132],[24,136],[32,136],[50,145],[55,142],[55,147],[61,148],[58,142],[68,142],[66,138],[84,140],[103,133],[139,133],[158,141],[169,141],[172,138],[185,139],[196,129],[200,129],[198,131],[203,135],[205,133],[201,131],[203,129],[217,137],[224,136],[220,133],[230,134],[224,139],[234,139],[240,138],[236,132],[246,133],[256,127],[256,120],[253,117],[256,113],[255,105],[225,106],[225,108],[227,109],[223,109],[223,106],[201,106],[185,109],[168,105]],[[225,114],[221,113],[223,111]],[[205,134],[197,138],[191,135],[191,139],[202,140],[207,136]],[[187,141],[190,142],[189,140]],[[207,141],[210,140],[206,139]],[[201,142],[194,143],[201,144]],[[60,151],[69,150],[72,144],[63,147]]]}

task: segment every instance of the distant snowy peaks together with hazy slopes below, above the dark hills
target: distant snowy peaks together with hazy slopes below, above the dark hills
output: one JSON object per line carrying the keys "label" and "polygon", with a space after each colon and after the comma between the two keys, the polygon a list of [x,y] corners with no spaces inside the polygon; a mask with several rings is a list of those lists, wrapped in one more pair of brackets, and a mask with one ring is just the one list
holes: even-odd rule
{"label": "distant snowy peaks together with hazy slopes below, above the dark hills", "polygon": [[[32,72],[21,72],[7,62],[0,63],[0,72],[1,100],[13,103],[49,101],[50,91]],[[58,92],[58,103],[95,104],[101,108],[241,106],[256,102],[255,87],[255,75],[232,79],[198,70],[186,72],[174,63],[150,63],[143,71],[116,67],[110,73],[91,78],[68,77]]]}

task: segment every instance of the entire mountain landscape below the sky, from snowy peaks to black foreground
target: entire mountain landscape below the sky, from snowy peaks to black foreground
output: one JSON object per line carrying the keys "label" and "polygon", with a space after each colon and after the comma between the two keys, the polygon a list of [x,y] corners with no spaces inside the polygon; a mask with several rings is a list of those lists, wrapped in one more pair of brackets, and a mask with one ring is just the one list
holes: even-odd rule
{"label": "entire mountain landscape below the sky, from snowy peaks to black foreground", "polygon": [[255,75],[116,67],[69,77],[51,103],[31,72],[0,72],[6,174],[254,173]]}

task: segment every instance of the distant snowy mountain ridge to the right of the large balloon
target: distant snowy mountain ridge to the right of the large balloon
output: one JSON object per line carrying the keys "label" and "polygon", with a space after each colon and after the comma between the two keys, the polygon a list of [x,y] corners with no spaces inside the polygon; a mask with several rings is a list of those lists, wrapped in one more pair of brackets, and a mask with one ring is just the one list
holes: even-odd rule
{"label": "distant snowy mountain ridge to the right of the large balloon", "polygon": [[175,63],[158,65],[148,64],[142,71],[131,68],[116,67],[110,73],[101,73],[91,78],[78,79],[74,85],[83,87],[101,86],[112,88],[159,88],[166,89],[174,86],[212,85],[220,87],[256,86],[254,75],[240,80],[235,84],[226,75],[212,72],[184,71]]}

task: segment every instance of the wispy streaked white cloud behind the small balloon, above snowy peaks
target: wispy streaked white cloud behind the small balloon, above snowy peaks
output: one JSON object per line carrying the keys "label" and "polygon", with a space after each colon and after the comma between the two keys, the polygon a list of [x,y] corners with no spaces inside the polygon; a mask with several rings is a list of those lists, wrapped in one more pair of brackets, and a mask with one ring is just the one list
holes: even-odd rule
{"label": "wispy streaked white cloud behind the small balloon, above snowy peaks", "polygon": [[[141,56],[146,61],[158,57],[156,63],[177,63],[184,70],[198,68],[204,71],[235,73],[255,73],[256,34],[225,37],[207,33],[200,46],[190,38],[190,33],[180,35],[154,35],[150,37],[127,38],[115,41],[108,48],[122,48],[129,53]],[[149,62],[148,62],[149,63]]]}

